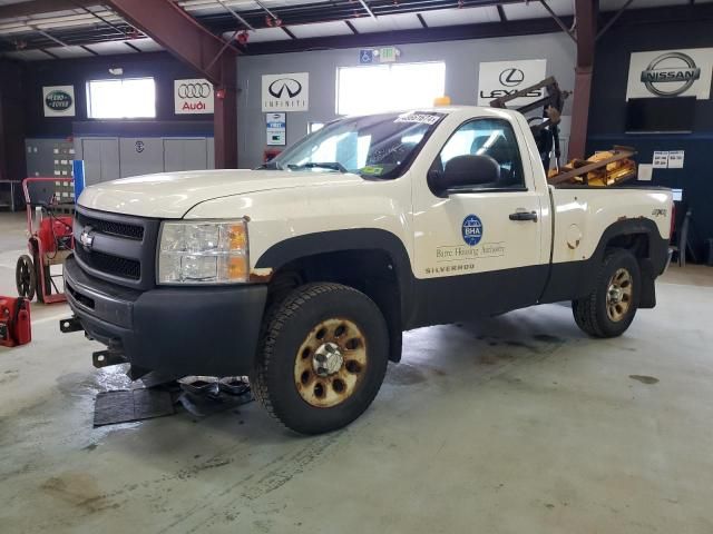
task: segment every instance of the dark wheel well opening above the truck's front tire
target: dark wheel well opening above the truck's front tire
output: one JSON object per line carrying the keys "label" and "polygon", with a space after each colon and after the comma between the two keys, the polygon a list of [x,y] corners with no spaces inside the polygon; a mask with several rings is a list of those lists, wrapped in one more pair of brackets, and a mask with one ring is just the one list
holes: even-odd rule
{"label": "dark wheel well opening above the truck's front tire", "polygon": [[280,267],[267,289],[267,307],[282,301],[297,286],[332,281],[371,298],[387,320],[389,359],[401,358],[401,291],[391,256],[380,249],[338,250],[297,258]]}

